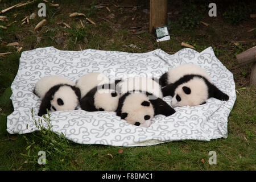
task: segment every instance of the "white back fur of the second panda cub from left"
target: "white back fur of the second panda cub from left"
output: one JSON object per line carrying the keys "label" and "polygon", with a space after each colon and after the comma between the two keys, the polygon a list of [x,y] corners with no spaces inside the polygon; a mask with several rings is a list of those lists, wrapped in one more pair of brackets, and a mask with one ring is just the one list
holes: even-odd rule
{"label": "white back fur of the second panda cub from left", "polygon": [[77,81],[77,88],[80,89],[81,98],[97,85],[109,84],[109,78],[102,73],[88,73]]}

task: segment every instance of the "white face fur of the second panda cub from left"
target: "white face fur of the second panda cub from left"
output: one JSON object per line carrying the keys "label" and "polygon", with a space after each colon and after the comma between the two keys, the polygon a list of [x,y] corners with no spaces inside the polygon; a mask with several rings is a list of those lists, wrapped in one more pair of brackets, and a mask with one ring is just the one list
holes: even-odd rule
{"label": "white face fur of the second panda cub from left", "polygon": [[96,109],[104,109],[105,111],[117,110],[120,95],[112,97],[111,93],[115,92],[113,89],[101,89],[94,95],[94,105]]}

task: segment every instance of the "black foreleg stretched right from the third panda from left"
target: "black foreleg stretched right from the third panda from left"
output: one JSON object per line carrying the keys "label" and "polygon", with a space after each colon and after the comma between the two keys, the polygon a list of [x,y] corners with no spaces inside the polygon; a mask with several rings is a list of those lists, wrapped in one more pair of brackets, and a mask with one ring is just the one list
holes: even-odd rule
{"label": "black foreleg stretched right from the third panda from left", "polygon": [[150,100],[150,102],[154,106],[154,115],[163,114],[165,116],[169,116],[176,112],[170,105],[164,102],[161,98]]}

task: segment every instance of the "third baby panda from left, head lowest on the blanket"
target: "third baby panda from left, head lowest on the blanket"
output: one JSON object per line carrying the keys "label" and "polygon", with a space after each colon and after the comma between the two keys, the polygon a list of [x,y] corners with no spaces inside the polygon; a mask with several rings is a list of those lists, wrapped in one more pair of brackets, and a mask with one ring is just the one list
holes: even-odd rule
{"label": "third baby panda from left, head lowest on the blanket", "polygon": [[149,127],[155,115],[169,116],[175,113],[162,100],[163,94],[158,82],[151,78],[127,78],[117,83],[117,90],[121,94],[117,115],[132,125]]}

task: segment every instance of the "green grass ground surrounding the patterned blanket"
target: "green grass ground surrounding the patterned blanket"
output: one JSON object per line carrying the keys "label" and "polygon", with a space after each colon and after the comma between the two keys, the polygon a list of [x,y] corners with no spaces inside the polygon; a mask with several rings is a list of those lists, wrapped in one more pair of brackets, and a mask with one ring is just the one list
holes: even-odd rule
{"label": "green grass ground surrounding the patterned blanket", "polygon": [[[19,23],[13,24],[7,30],[0,28],[0,37],[7,43],[19,42],[19,46],[23,47],[22,51],[54,46],[71,51],[78,51],[80,47],[125,52],[148,52],[161,48],[174,53],[183,48],[180,46],[181,42],[194,45],[199,52],[205,46],[212,46],[218,59],[233,72],[238,91],[237,101],[228,118],[228,138],[210,142],[182,140],[147,147],[114,147],[73,143],[47,130],[23,135],[9,134],[6,131],[6,119],[13,111],[9,100],[10,85],[18,71],[21,53],[16,53],[16,48],[6,47],[0,42],[0,52],[13,52],[6,57],[0,57],[0,170],[255,170],[256,90],[249,86],[250,66],[237,67],[234,57],[254,46],[255,41],[251,40],[255,39],[255,31],[249,36],[241,35],[240,40],[247,39],[248,43],[238,47],[230,42],[234,41],[234,36],[242,33],[236,34],[233,26],[225,27],[222,19],[209,27],[198,24],[192,31],[191,28],[184,30],[179,22],[173,21],[171,40],[156,43],[154,36],[148,32],[134,35],[129,28],[124,28],[126,23],[119,28],[115,27],[119,23],[118,16],[110,20],[113,23],[102,20],[105,16],[100,13],[104,11],[102,14],[105,14],[108,11],[94,10],[93,6],[97,3],[93,5],[92,2],[79,1],[71,5],[69,1],[55,1],[60,4],[59,10],[47,5],[47,23],[38,32],[34,31],[34,27],[43,18],[37,17],[29,25],[20,26],[21,19],[38,10],[37,3],[7,11],[3,15],[9,18],[9,22],[0,23],[6,25],[14,20],[19,20]],[[18,1],[10,3],[3,0],[1,3],[6,3],[9,7]],[[110,7],[112,10],[114,8]],[[82,17],[69,18],[68,15],[76,11],[88,13],[97,23],[96,26]],[[130,15],[129,9],[117,9],[114,13],[121,12],[125,16]],[[16,19],[13,17],[15,13],[19,13]],[[85,28],[81,27],[79,19]],[[147,20],[143,19],[144,22]],[[68,23],[71,28],[65,28],[61,24],[63,22]],[[41,38],[40,42],[36,42],[38,37]],[[57,44],[57,38],[62,38],[63,44]],[[140,49],[131,48],[129,44],[135,44]],[[217,47],[220,45],[222,47]],[[121,154],[119,149],[123,150]],[[38,152],[41,150],[46,151],[47,158],[47,164],[42,166],[37,162]],[[209,151],[216,151],[217,165],[209,165]]]}

